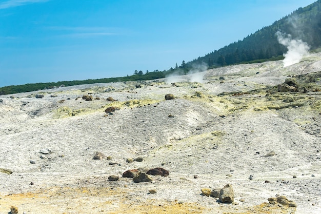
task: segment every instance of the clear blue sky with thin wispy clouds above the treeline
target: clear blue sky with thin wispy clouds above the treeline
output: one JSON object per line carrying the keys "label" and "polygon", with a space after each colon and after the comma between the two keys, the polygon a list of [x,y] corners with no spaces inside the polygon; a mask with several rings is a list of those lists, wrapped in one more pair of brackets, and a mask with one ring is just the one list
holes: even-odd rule
{"label": "clear blue sky with thin wispy clouds above the treeline", "polygon": [[0,87],[164,70],[315,0],[0,0]]}

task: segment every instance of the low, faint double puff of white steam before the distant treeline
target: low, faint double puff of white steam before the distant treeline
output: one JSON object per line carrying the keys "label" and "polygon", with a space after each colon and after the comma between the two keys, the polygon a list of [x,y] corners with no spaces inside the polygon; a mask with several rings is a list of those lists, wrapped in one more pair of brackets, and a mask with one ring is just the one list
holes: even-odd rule
{"label": "low, faint double puff of white steam before the distant treeline", "polygon": [[193,68],[186,74],[187,76],[182,76],[182,75],[185,75],[183,70],[177,70],[174,73],[166,76],[167,77],[166,83],[171,84],[171,83],[184,82],[184,81],[203,83],[204,75],[205,75],[204,71],[207,71],[207,69],[208,69],[208,66],[205,63],[193,65]]}

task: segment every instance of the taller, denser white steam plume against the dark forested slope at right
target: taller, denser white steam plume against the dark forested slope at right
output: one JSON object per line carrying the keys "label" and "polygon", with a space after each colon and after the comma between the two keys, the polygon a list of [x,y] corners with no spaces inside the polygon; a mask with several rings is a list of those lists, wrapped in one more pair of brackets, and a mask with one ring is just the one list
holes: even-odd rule
{"label": "taller, denser white steam plume against the dark forested slope at right", "polygon": [[280,31],[276,32],[277,40],[280,44],[286,46],[288,51],[283,54],[283,67],[299,63],[304,55],[309,53],[309,45],[302,40],[293,40],[290,34],[285,34]]}

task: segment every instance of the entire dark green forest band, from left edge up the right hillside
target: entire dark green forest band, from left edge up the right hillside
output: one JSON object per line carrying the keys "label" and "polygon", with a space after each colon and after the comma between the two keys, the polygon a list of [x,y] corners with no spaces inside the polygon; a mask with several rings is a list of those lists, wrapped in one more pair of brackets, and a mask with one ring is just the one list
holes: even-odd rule
{"label": "entire dark green forest band, from left edge up the right hillside", "polygon": [[177,71],[180,71],[180,74],[187,73],[190,69],[194,68],[195,65],[202,64],[206,64],[209,68],[215,68],[233,64],[282,60],[284,59],[283,54],[287,52],[287,48],[278,43],[276,36],[277,31],[291,34],[293,39],[308,43],[310,50],[320,48],[321,0],[307,7],[298,8],[291,14],[275,21],[272,25],[263,27],[248,35],[243,38],[242,41],[239,40],[219,50],[214,50],[205,56],[199,56],[190,62],[183,61],[179,66],[176,64],[174,68],[170,68],[169,70],[154,70],[152,72],[146,71],[145,73],[142,70],[135,70],[133,75],[124,77],[6,86],[0,88],[0,95],[50,89],[61,85],[72,86],[92,83],[155,80]]}

